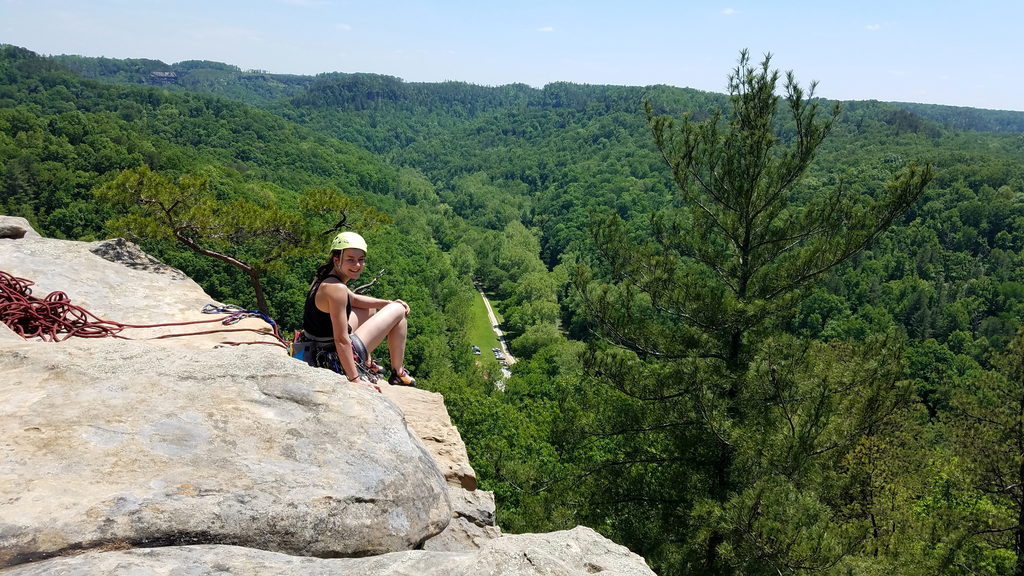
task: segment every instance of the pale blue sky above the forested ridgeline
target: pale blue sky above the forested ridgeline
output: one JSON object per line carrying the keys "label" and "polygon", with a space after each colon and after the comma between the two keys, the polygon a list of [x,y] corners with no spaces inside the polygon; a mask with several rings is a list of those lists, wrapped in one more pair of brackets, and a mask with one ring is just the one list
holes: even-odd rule
{"label": "pale blue sky above the forested ridgeline", "polygon": [[724,92],[748,48],[828,98],[1017,111],[1022,26],[1021,0],[0,0],[0,43],[43,54]]}

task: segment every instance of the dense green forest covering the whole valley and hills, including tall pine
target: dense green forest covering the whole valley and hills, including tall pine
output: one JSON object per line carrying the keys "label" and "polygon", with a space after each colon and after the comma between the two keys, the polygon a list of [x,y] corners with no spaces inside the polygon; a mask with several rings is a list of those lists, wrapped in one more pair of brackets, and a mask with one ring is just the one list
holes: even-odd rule
{"label": "dense green forest covering the whole valley and hills, including tall pine", "polygon": [[[310,201],[336,199],[506,531],[586,524],[663,575],[1024,574],[1024,114],[834,117],[757,66],[727,95],[2,50],[0,212],[46,235],[128,230],[100,191],[143,168],[323,242]],[[323,254],[247,242],[295,328]],[[505,392],[469,353],[473,280],[521,360]]]}

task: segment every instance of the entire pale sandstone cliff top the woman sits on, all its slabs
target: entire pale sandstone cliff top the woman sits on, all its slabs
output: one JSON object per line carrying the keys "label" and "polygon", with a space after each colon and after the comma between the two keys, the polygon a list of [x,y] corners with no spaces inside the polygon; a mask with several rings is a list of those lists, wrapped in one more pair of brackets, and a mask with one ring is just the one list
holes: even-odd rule
{"label": "entire pale sandstone cliff top the woman sits on, all its slabs", "polygon": [[[0,270],[38,296],[129,324],[209,318],[195,282],[130,243],[22,228]],[[224,346],[276,341],[234,327],[43,342],[0,324],[0,572],[652,574],[589,529],[502,536],[439,395]]]}

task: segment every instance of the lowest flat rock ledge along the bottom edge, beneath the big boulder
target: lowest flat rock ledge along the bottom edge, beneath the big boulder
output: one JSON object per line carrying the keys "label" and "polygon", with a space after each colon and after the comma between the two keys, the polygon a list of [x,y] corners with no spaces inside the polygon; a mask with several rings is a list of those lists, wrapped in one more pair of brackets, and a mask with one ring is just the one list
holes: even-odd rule
{"label": "lowest flat rock ledge along the bottom edge, beneath the big boulder", "polygon": [[653,576],[642,558],[589,528],[504,536],[479,550],[414,550],[374,558],[310,559],[236,546],[93,551],[24,565],[5,576]]}

